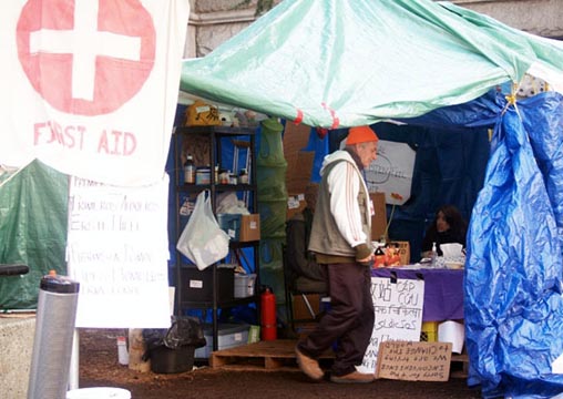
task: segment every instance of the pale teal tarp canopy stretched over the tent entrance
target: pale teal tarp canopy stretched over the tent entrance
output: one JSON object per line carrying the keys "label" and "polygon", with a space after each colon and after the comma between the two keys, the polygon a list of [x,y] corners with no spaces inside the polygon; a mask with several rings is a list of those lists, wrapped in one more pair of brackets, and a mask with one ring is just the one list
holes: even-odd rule
{"label": "pale teal tarp canopy stretched over the tent entrance", "polygon": [[561,91],[563,45],[429,0],[285,0],[203,59],[181,90],[311,126],[461,104],[533,74]]}

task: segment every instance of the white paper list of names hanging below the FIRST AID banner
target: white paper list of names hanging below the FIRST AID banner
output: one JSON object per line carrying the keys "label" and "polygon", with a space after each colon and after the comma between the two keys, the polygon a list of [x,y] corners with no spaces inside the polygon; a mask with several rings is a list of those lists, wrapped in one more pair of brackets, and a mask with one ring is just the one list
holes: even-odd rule
{"label": "white paper list of names hanging below the FIRST AID banner", "polygon": [[76,327],[170,327],[167,176],[144,187],[72,177],[66,259]]}

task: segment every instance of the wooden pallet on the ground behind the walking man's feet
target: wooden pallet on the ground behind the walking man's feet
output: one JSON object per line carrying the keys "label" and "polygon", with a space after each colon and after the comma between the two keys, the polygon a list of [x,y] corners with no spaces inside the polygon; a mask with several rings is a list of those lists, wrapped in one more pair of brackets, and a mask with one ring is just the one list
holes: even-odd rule
{"label": "wooden pallet on the ground behind the walking man's feet", "polygon": [[[232,370],[299,371],[295,358],[296,344],[293,339],[277,339],[217,350],[211,354],[209,366]],[[319,362],[334,358],[334,354],[328,351]]]}

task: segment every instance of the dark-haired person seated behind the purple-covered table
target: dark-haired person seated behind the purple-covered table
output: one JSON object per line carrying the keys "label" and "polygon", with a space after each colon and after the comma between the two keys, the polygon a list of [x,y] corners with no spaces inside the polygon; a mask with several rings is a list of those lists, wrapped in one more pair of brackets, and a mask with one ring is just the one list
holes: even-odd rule
{"label": "dark-haired person seated behind the purple-covered table", "polygon": [[422,257],[431,256],[432,243],[436,243],[438,256],[443,255],[440,244],[459,243],[465,247],[467,232],[468,224],[455,206],[440,206],[422,241]]}

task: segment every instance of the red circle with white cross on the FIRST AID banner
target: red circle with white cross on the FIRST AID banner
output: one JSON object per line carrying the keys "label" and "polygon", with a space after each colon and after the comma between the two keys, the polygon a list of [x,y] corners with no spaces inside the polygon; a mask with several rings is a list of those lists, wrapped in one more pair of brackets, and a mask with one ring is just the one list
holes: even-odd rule
{"label": "red circle with white cross on the FIRST AID banner", "polygon": [[29,0],[17,38],[31,85],[66,113],[117,110],[154,65],[153,19],[139,0]]}

